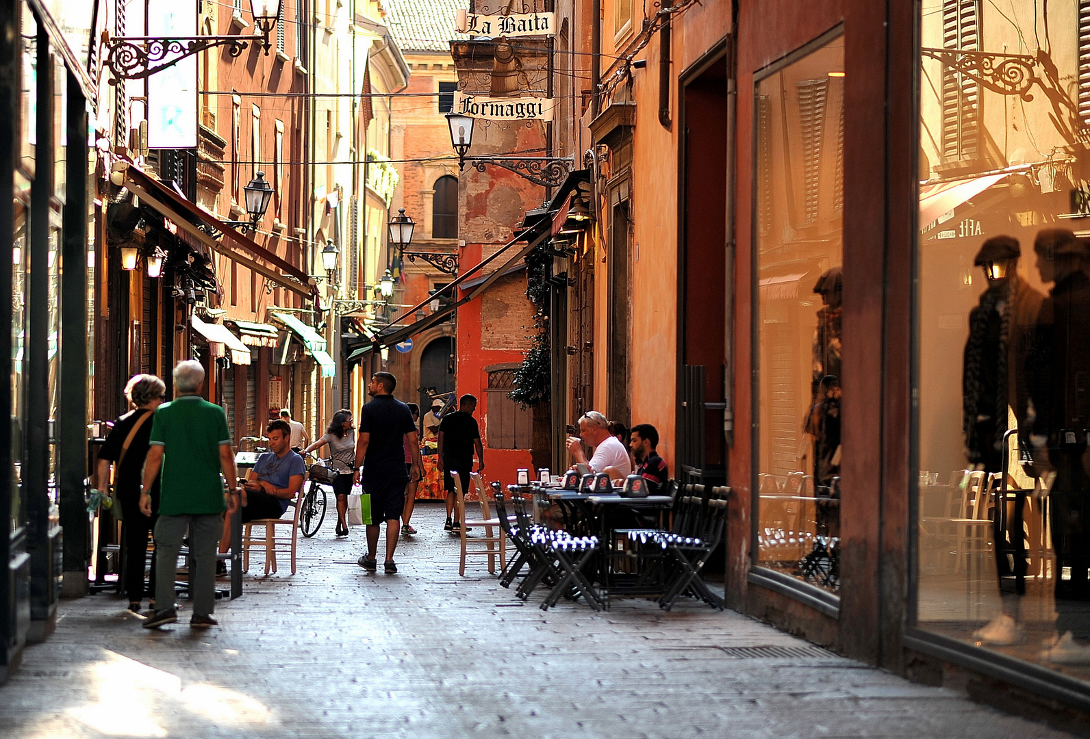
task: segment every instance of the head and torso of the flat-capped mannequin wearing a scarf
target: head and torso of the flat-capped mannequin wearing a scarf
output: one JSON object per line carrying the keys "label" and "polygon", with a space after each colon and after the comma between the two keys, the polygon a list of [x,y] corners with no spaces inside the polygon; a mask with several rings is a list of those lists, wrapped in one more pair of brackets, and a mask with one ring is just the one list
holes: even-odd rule
{"label": "head and torso of the flat-capped mannequin wearing a scarf", "polygon": [[962,364],[962,429],[972,469],[998,472],[1007,407],[1019,426],[1026,420],[1027,389],[1020,372],[1044,296],[1018,276],[1021,249],[1012,237],[984,242],[973,265],[984,270],[988,289],[969,313]]}

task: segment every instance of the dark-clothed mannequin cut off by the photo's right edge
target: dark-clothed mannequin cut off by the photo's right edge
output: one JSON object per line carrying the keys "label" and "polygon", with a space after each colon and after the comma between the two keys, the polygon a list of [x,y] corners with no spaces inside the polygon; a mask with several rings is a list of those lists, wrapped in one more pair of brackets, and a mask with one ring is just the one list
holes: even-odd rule
{"label": "dark-clothed mannequin cut off by the photo's right edge", "polygon": [[1090,249],[1066,229],[1038,233],[1038,268],[1054,282],[1026,364],[1033,465],[1047,494],[1056,642],[1041,657],[1090,665]]}

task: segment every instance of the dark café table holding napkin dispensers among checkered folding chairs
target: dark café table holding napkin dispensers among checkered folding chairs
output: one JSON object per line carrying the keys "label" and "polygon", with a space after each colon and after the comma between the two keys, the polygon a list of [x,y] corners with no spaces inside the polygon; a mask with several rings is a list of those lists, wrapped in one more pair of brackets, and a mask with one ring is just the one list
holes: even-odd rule
{"label": "dark caf\u00e9 table holding napkin dispensers among checkered folding chairs", "polygon": [[[674,498],[667,495],[651,495],[645,498],[626,498],[617,494],[582,494],[576,490],[557,490],[536,486],[536,496],[547,499],[548,504],[558,504],[564,511],[566,523],[572,533],[589,534],[598,537],[600,555],[592,562],[594,572],[592,580],[602,587],[603,596],[608,607],[610,596],[650,596],[663,592],[663,572],[657,567],[655,558],[639,556],[629,552],[625,537],[620,540],[616,532],[629,528],[646,528],[635,513],[657,513],[659,528],[666,528],[663,520],[674,505]],[[621,511],[633,513],[627,521],[619,520]],[[620,524],[620,525],[618,525]]]}

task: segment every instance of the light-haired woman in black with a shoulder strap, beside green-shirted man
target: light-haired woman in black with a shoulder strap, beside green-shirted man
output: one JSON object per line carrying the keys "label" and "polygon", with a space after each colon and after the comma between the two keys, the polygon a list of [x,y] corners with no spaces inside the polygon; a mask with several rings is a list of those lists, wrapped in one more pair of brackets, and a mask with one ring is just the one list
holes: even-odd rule
{"label": "light-haired woman in black with a shoulder strap, beside green-shirted man", "polygon": [[[120,511],[123,581],[129,596],[129,609],[140,611],[144,599],[144,560],[147,553],[147,536],[155,526],[155,511],[159,510],[159,483],[156,481],[150,493],[150,517],[140,510],[141,475],[152,438],[152,416],[162,402],[167,386],[155,375],[133,375],[125,385],[125,398],[133,405],[113,423],[113,429],[106,437],[98,452],[98,489],[110,486],[110,468],[113,468],[113,498],[117,502],[114,514]],[[147,594],[150,607],[155,609],[155,560],[152,561],[152,580]]]}

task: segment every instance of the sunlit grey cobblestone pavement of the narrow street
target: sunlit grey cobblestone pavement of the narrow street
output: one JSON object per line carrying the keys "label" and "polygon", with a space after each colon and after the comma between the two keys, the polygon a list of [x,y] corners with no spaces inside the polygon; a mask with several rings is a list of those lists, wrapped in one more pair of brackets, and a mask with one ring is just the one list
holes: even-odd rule
{"label": "sunlit grey cobblestone pavement of the narrow street", "polygon": [[362,529],[336,541],[327,520],[298,574],[219,602],[218,629],[191,631],[186,609],[149,632],[113,595],[62,603],[0,687],[0,736],[1067,736],[848,659],[739,657],[725,650],[808,644],[731,611],[544,613],[480,559],[460,578],[441,509],[416,510],[397,576],[356,567]]}

